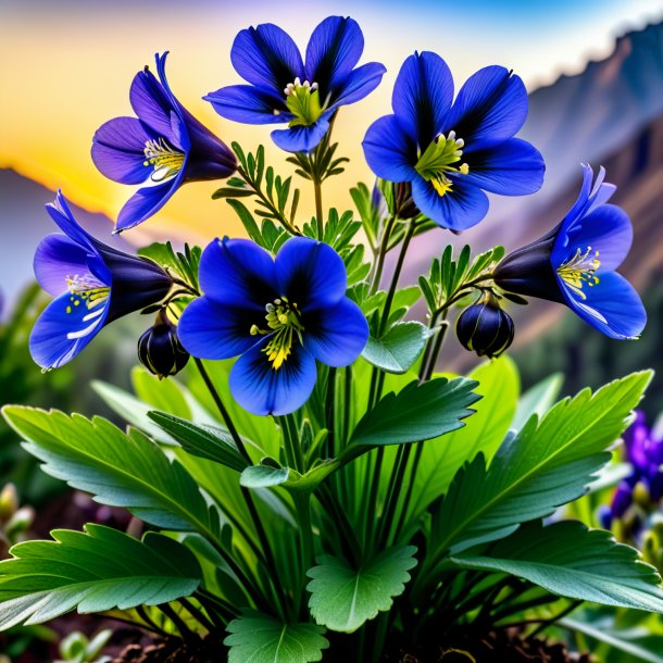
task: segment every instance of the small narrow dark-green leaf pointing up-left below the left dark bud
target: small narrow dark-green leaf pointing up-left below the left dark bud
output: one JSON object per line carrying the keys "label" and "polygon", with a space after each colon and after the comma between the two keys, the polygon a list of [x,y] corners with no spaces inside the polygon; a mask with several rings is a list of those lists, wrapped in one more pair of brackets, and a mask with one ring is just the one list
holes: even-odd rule
{"label": "small narrow dark-green leaf pointing up-left below the left dark bud", "polygon": [[175,438],[187,453],[221,463],[237,472],[247,467],[247,460],[238,451],[233,437],[226,430],[197,425],[165,412],[152,411],[148,416]]}

